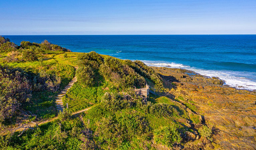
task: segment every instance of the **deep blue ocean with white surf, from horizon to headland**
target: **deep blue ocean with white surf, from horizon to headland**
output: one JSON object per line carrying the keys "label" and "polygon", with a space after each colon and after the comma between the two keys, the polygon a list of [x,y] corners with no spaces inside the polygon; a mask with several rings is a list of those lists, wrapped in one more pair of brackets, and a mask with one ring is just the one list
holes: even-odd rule
{"label": "deep blue ocean with white surf, from horizon to headland", "polygon": [[43,40],[73,52],[96,51],[121,59],[142,60],[217,76],[226,84],[256,89],[256,35],[24,35],[21,41]]}

